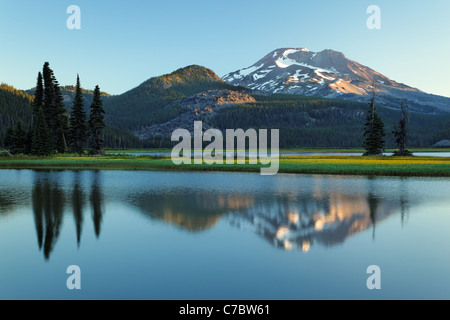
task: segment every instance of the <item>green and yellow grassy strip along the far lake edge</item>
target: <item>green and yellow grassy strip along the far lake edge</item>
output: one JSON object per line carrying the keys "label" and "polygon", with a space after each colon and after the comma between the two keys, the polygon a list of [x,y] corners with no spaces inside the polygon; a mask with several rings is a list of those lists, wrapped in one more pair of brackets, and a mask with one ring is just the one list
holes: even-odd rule
{"label": "green and yellow grassy strip along the far lake edge", "polygon": [[[261,167],[263,167],[261,164],[192,164],[177,166],[173,164],[170,158],[152,156],[0,157],[0,169],[259,172]],[[278,172],[296,174],[450,177],[450,158],[386,156],[281,157]]]}

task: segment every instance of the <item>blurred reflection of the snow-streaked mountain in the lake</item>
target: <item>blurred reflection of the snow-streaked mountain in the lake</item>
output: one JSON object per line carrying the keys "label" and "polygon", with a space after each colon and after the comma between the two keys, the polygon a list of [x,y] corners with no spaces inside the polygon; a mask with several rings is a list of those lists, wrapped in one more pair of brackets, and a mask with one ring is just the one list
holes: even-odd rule
{"label": "blurred reflection of the snow-streaked mountain in the lake", "polygon": [[375,239],[376,224],[396,211],[395,203],[370,193],[366,198],[331,193],[328,197],[303,198],[295,203],[262,202],[248,210],[230,213],[230,219],[236,227],[251,230],[276,247],[308,252],[314,243],[333,246],[370,227]]}

